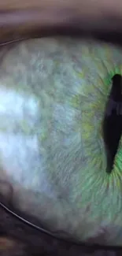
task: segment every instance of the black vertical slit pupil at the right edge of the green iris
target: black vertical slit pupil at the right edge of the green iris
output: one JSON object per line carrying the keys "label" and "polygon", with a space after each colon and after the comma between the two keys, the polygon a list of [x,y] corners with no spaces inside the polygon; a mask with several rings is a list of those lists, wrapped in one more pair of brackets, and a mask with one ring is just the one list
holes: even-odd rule
{"label": "black vertical slit pupil at the right edge of the green iris", "polygon": [[116,74],[112,79],[103,121],[103,138],[107,157],[107,173],[111,173],[116,152],[122,135],[122,76]]}

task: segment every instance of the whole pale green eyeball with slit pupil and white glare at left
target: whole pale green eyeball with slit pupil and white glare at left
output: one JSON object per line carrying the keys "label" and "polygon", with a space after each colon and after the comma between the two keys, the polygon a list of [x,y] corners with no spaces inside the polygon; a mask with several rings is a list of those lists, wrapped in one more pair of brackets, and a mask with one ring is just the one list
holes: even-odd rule
{"label": "whole pale green eyeball with slit pupil and white glare at left", "polygon": [[2,57],[0,178],[21,217],[122,244],[121,76],[122,50],[91,40],[28,40]]}

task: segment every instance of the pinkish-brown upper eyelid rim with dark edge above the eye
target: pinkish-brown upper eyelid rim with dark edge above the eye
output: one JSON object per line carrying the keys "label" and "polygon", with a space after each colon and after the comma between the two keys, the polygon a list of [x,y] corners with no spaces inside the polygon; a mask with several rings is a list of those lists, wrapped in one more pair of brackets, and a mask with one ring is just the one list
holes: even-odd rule
{"label": "pinkish-brown upper eyelid rim with dark edge above the eye", "polygon": [[122,46],[122,22],[104,17],[87,19],[72,9],[0,10],[0,46],[55,35],[85,36]]}

